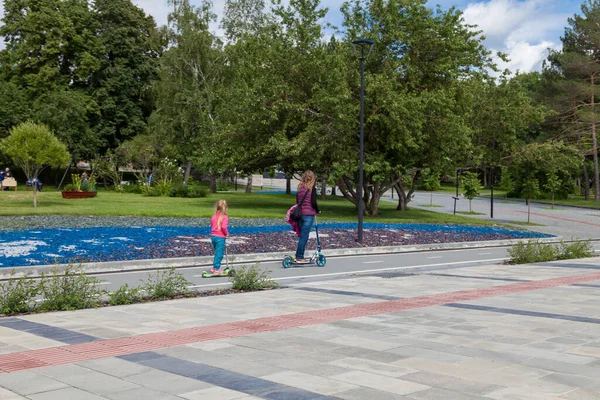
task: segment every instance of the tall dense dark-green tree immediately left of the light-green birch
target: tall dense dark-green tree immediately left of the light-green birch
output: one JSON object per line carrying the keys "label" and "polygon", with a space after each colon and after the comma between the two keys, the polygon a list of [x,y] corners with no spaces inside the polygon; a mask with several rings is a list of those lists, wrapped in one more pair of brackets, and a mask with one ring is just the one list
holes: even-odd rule
{"label": "tall dense dark-green tree immediately left of the light-green birch", "polygon": [[130,0],[95,0],[100,65],[91,78],[100,109],[96,130],[107,148],[146,133],[152,112],[151,81],[163,50],[151,16]]}

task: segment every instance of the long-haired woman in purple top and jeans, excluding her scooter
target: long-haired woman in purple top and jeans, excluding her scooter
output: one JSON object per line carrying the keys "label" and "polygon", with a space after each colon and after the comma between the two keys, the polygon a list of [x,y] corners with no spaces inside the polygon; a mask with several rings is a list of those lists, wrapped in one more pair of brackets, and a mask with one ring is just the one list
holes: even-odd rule
{"label": "long-haired woman in purple top and jeans, excluding her scooter", "polygon": [[298,222],[300,226],[300,238],[298,239],[298,247],[296,249],[296,262],[299,264],[308,263],[309,260],[304,258],[304,250],[308,236],[315,223],[315,215],[319,214],[319,206],[317,205],[317,190],[315,189],[315,173],[306,171],[302,174],[302,180],[298,184],[296,192],[296,204],[302,211],[302,219]]}

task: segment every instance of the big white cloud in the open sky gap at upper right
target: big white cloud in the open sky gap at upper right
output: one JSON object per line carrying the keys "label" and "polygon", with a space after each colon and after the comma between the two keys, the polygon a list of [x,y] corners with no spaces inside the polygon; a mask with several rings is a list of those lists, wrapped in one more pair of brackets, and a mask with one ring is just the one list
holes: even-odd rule
{"label": "big white cloud in the open sky gap at upper right", "polygon": [[548,48],[561,46],[557,37],[568,16],[553,12],[555,5],[554,0],[491,0],[467,5],[464,17],[483,31],[488,48],[508,55],[509,62],[495,57],[501,69],[530,72],[541,68]]}

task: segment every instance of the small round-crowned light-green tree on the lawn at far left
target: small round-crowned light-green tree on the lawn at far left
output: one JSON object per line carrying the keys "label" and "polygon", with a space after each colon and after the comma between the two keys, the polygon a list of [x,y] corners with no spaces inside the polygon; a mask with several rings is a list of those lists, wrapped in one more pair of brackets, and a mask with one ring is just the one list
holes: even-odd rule
{"label": "small round-crowned light-green tree on the lawn at far left", "polygon": [[[2,151],[23,169],[31,182],[38,179],[38,175],[46,166],[63,166],[71,161],[67,147],[42,124],[19,124],[11,129],[10,135],[1,143]],[[37,185],[32,186],[33,206],[37,207]]]}

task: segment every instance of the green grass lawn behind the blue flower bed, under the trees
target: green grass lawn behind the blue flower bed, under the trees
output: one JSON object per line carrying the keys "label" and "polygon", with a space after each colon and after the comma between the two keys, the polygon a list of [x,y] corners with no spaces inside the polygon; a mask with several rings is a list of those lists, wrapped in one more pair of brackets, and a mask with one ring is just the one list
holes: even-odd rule
{"label": "green grass lawn behind the blue flower bed, under the trees", "polygon": [[[173,197],[143,197],[140,194],[116,193],[99,190],[91,199],[63,199],[60,192],[44,189],[38,193],[38,207],[33,207],[31,191],[0,192],[0,215],[93,215],[93,216],[148,216],[148,217],[210,217],[218,199],[229,204],[232,218],[285,218],[286,211],[294,204],[294,195],[218,193],[206,198],[183,199]],[[319,201],[320,218],[336,221],[356,221],[356,208],[340,197],[329,196]],[[458,223],[491,224],[473,218],[411,209],[396,211],[393,203],[380,203],[378,217],[365,217],[365,222],[405,223]]]}

